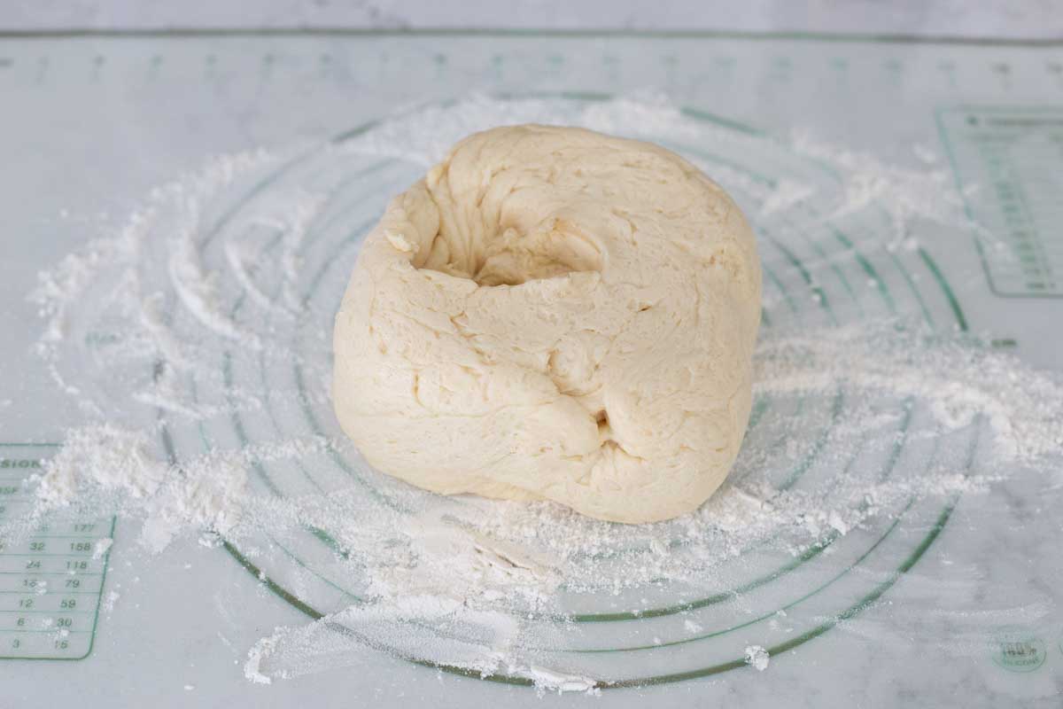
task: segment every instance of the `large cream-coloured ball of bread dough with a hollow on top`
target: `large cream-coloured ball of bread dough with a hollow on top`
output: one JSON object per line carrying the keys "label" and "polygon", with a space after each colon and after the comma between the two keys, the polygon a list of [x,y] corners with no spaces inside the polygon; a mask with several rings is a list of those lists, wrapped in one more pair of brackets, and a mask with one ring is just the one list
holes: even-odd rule
{"label": "large cream-coloured ball of bread dough with a hollow on top", "polygon": [[421,488],[673,518],[738,454],[760,282],[738,206],[678,155],[477,133],[366,238],[336,316],[336,415]]}

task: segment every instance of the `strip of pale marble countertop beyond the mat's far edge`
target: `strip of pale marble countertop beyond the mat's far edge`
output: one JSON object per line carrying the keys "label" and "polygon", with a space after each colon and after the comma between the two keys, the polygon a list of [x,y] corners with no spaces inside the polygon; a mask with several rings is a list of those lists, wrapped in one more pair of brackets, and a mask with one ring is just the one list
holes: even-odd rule
{"label": "strip of pale marble countertop beyond the mat's far edge", "polygon": [[1063,3],[962,0],[10,0],[0,29],[536,28],[729,30],[917,36],[1063,35]]}

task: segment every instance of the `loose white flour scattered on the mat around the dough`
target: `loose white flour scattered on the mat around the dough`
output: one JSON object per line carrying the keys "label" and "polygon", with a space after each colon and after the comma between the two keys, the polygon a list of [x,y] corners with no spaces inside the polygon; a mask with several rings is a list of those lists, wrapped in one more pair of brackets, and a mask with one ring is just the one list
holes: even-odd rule
{"label": "loose white flour scattered on the mat around the dough", "polygon": [[[325,530],[336,548],[331,571],[360,601],[263,639],[250,651],[249,679],[356,664],[368,645],[587,691],[593,680],[552,659],[564,634],[541,619],[563,619],[580,598],[615,598],[638,611],[644,589],[713,592],[725,586],[716,572],[750,550],[797,557],[881,526],[912,500],[954,500],[1018,467],[1044,468],[1063,448],[1058,378],[976,338],[929,332],[902,313],[889,321],[765,328],[755,357],[761,419],[724,487],[676,520],[626,526],[547,503],[443,499],[369,470],[331,423],[331,308],[341,292],[317,302],[299,290],[305,269],[318,268],[307,260],[313,234],[337,219],[330,185],[352,159],[398,161],[406,167],[396,179],[412,178],[470,132],[529,121],[651,140],[737,139],[714,136],[720,129],[654,97],[587,105],[473,97],[384,121],[340,146],[222,156],[154,190],[115,234],[40,276],[33,296],[45,320],[38,352],[88,423],[67,432],[31,483],[34,509],[5,534],[56,514],[116,512],[140,524],[152,553],[184,537],[225,539],[268,561],[273,541]],[[741,139],[757,150],[777,142]],[[877,249],[911,248],[912,220],[969,226],[935,165],[885,166],[809,136],[786,149],[831,166],[841,183],[825,195],[811,184],[765,186],[713,173],[756,200],[744,205],[755,231],[758,217],[796,219],[811,199],[828,205],[828,221],[884,205],[888,226],[860,237]],[[307,162],[320,168],[314,179],[277,182],[233,210],[264,175]],[[226,369],[234,360],[285,371],[298,364],[305,390],[264,390],[236,378]],[[286,424],[297,406],[314,411],[322,431]],[[227,432],[235,413],[272,417],[276,433],[214,435]],[[891,466],[892,446],[924,443],[935,452],[919,465]],[[848,468],[864,457],[874,465]],[[352,471],[348,483],[277,494],[264,482],[263,471],[303,470],[317,485],[315,475],[337,459]],[[759,646],[746,655],[767,668]]]}

